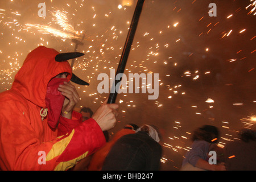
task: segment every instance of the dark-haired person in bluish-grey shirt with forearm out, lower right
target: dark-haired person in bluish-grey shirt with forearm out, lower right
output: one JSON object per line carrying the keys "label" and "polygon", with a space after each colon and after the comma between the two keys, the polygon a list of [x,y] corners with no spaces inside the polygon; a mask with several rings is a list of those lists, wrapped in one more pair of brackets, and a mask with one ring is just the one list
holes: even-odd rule
{"label": "dark-haired person in bluish-grey shirt with forearm out, lower right", "polygon": [[185,155],[181,171],[225,171],[224,164],[214,165],[208,162],[209,151],[216,151],[219,135],[215,126],[204,125],[196,129],[192,136],[192,149]]}

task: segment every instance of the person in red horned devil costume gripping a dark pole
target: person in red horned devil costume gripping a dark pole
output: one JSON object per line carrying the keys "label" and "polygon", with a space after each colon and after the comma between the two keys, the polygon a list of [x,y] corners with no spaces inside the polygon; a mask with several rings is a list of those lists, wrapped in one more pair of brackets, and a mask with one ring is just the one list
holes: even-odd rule
{"label": "person in red horned devil costume gripping a dark pole", "polygon": [[0,93],[0,168],[67,170],[106,143],[102,131],[117,122],[117,104],[102,104],[82,122],[73,110],[79,94],[70,81],[88,85],[72,73],[68,59],[40,46],[16,73],[10,90]]}

